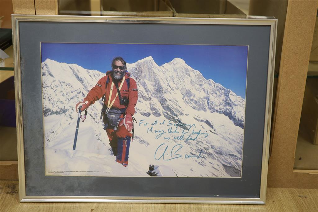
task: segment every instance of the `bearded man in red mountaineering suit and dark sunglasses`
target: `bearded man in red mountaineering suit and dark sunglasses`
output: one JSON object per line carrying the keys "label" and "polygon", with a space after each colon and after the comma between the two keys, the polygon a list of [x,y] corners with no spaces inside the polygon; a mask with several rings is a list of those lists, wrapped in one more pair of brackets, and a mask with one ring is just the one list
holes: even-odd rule
{"label": "bearded man in red mountaineering suit and dark sunglasses", "polygon": [[134,134],[132,116],[135,114],[138,99],[136,81],[130,78],[126,69],[126,61],[122,57],[114,58],[112,71],[107,71],[106,76],[102,77],[84,100],[75,106],[77,112],[79,106],[82,106],[80,110],[84,111],[103,97],[101,118],[105,124],[109,145],[116,161],[125,167],[128,166],[130,140]]}

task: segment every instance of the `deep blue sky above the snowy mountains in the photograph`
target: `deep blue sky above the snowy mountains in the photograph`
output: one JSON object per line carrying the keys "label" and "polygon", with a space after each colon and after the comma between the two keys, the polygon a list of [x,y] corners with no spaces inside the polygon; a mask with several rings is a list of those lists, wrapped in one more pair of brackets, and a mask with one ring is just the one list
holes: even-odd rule
{"label": "deep blue sky above the snowy mountains in the photograph", "polygon": [[49,58],[100,72],[111,70],[116,56],[127,63],[152,56],[158,65],[182,58],[205,79],[220,83],[244,99],[247,52],[248,46],[229,45],[41,43],[42,62]]}

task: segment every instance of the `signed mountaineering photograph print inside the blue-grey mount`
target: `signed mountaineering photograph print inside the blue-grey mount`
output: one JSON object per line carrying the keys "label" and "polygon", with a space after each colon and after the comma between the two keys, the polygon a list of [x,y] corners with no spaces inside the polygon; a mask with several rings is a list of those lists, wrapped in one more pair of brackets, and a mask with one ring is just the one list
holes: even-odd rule
{"label": "signed mountaineering photograph print inside the blue-grey mount", "polygon": [[41,43],[45,175],[241,177],[247,45]]}

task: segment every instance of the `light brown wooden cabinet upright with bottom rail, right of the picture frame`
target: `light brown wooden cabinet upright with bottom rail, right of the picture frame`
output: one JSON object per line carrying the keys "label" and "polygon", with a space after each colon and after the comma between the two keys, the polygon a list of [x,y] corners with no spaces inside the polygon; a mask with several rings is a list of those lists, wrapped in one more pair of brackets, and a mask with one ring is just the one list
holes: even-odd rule
{"label": "light brown wooden cabinet upright with bottom rail, right of the picture frame", "polygon": [[318,175],[295,173],[294,153],[318,1],[288,1],[272,131],[268,187],[318,188]]}

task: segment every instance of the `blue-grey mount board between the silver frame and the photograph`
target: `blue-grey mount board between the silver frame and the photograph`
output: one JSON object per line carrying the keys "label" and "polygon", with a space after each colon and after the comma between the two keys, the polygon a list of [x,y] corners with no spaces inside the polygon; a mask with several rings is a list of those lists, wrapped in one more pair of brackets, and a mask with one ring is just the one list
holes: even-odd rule
{"label": "blue-grey mount board between the silver frame and the photograph", "polygon": [[[270,26],[24,21],[19,33],[26,195],[259,198]],[[40,42],[248,44],[242,178],[45,176]]]}

